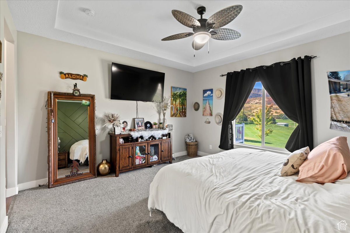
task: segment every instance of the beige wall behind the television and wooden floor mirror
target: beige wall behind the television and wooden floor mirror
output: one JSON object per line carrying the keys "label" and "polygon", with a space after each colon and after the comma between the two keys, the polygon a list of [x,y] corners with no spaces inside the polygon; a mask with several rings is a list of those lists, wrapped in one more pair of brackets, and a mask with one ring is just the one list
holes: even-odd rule
{"label": "beige wall behind the television and wooden floor mirror", "polygon": [[[47,177],[47,91],[72,92],[75,82],[82,93],[96,96],[97,162],[109,160],[108,130],[102,127],[100,118],[107,111],[118,113],[122,119],[130,121],[136,117],[135,101],[109,98],[112,62],[163,72],[164,94],[170,95],[171,86],[184,87],[188,92],[188,106],[193,102],[193,73],[18,32],[19,184]],[[59,71],[87,74],[89,77],[86,82],[62,80]],[[133,91],[132,86],[125,88]],[[138,107],[139,117],[145,118],[145,121],[159,121],[154,103],[138,102]],[[170,117],[170,110],[167,112],[167,123],[173,124],[175,130],[173,153],[186,151],[184,136],[193,131],[192,115],[191,108],[184,118]]]}

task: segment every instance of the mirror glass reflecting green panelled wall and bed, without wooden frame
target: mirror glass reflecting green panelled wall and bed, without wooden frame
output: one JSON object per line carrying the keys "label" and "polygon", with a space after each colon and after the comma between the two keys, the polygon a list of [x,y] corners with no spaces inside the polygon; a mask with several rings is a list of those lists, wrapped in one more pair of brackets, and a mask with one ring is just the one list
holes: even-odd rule
{"label": "mirror glass reflecting green panelled wall and bed, without wooden frame", "polygon": [[89,113],[82,100],[57,100],[57,179],[89,173]]}

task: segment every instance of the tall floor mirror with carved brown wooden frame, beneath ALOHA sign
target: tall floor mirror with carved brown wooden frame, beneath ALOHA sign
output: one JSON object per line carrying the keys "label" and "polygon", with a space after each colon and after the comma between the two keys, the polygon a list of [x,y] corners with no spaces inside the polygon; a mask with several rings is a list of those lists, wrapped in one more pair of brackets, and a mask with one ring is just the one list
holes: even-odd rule
{"label": "tall floor mirror with carved brown wooden frame, beneath ALOHA sign", "polygon": [[95,96],[48,92],[47,110],[48,187],[95,178]]}

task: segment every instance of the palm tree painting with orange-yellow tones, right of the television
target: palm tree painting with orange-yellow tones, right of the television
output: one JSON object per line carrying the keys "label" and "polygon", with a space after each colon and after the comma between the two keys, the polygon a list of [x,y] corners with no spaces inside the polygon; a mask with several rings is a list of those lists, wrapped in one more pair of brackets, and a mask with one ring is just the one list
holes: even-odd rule
{"label": "palm tree painting with orange-yellow tones, right of the television", "polygon": [[187,89],[172,87],[170,115],[172,117],[186,117]]}

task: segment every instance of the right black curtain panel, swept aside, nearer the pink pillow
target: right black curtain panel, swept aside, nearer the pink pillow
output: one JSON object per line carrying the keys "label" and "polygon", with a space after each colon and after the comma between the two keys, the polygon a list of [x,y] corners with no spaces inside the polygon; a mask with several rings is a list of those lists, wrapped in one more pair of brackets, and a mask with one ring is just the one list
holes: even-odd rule
{"label": "right black curtain panel, swept aside, nearer the pink pillow", "polygon": [[293,58],[290,63],[283,65],[279,62],[269,67],[258,67],[262,86],[286,116],[298,123],[285,146],[290,152],[306,146],[310,150],[314,148],[310,66],[311,58],[305,56],[304,59]]}

